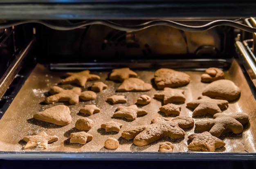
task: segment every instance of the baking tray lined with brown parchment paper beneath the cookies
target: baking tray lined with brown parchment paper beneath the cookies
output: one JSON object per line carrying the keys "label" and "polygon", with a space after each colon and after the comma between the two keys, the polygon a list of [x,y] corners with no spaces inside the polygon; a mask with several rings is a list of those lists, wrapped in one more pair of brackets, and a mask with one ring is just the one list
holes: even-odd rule
{"label": "baking tray lined with brown parchment paper beneath the cookies", "polygon": [[[148,111],[145,116],[138,117],[134,121],[116,118],[112,115],[119,105],[129,106],[136,103],[137,98],[142,94],[147,94],[153,98],[156,92],[159,92],[153,83],[154,72],[157,69],[136,70],[139,79],[143,79],[146,83],[152,83],[153,89],[148,92],[115,92],[121,83],[108,80],[111,70],[92,70],[92,74],[101,77],[99,81],[103,81],[108,85],[106,90],[97,93],[97,99],[92,101],[80,101],[76,105],[70,105],[67,102],[55,104],[45,104],[45,97],[51,86],[58,85],[66,89],[70,89],[72,85],[61,85],[61,77],[66,71],[52,71],[37,64],[31,72],[24,85],[13,99],[11,105],[0,120],[0,158],[2,159],[85,159],[85,160],[255,160],[256,159],[256,101],[252,94],[247,80],[236,60],[232,61],[231,66],[225,71],[225,78],[234,81],[240,87],[241,96],[238,101],[230,102],[229,108],[223,113],[231,114],[236,112],[245,112],[249,115],[249,123],[245,125],[245,129],[241,134],[225,134],[221,139],[226,143],[225,147],[217,149],[216,152],[198,152],[188,150],[188,135],[193,134],[194,127],[186,130],[184,139],[171,140],[170,138],[162,138],[150,145],[138,147],[132,143],[132,140],[121,138],[121,132],[138,125],[148,125],[152,119],[162,117],[164,114],[159,112],[162,102],[152,99],[151,103],[145,106],[139,106]],[[181,104],[182,109],[180,115],[192,116],[192,110],[186,108],[186,103],[196,100],[202,94],[202,90],[208,83],[202,83],[201,75],[203,71],[184,71],[191,77],[191,81],[183,89],[186,101]],[[83,91],[90,89],[94,81],[88,81]],[[128,100],[124,104],[111,105],[106,102],[107,97],[113,94],[123,94]],[[66,126],[57,126],[33,119],[33,115],[46,108],[54,105],[65,104],[71,110],[72,123]],[[79,110],[86,104],[95,104],[101,109],[101,112],[87,116],[94,121],[94,126],[88,131],[93,135],[92,141],[85,145],[69,143],[70,133],[76,132],[74,128],[77,119],[86,116],[80,114]],[[172,119],[173,116],[164,116]],[[211,118],[209,116],[194,118],[195,122]],[[110,120],[122,123],[121,131],[106,133],[101,128],[101,124]],[[24,149],[25,142],[22,140],[24,136],[34,135],[38,132],[45,131],[49,135],[58,136],[59,140],[48,145],[47,149],[34,147]],[[104,148],[104,142],[108,137],[114,137],[119,140],[119,147],[115,150]],[[158,152],[159,143],[163,141],[171,141],[174,144],[173,153]]]}

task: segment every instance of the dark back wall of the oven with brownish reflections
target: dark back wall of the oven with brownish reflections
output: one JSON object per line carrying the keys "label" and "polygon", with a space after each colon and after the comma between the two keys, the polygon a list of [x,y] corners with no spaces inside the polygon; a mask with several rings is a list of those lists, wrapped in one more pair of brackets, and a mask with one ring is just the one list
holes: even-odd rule
{"label": "dark back wall of the oven with brownish reflections", "polygon": [[[52,21],[61,24],[64,21]],[[65,21],[67,22],[67,21]],[[79,21],[68,21],[79,22]],[[131,26],[142,20],[115,20]],[[201,25],[206,22],[182,22]],[[104,25],[57,31],[38,25],[36,29],[41,63],[92,60],[229,58],[234,51],[234,30],[218,26],[208,31],[186,32],[169,26],[152,26],[125,32]]]}

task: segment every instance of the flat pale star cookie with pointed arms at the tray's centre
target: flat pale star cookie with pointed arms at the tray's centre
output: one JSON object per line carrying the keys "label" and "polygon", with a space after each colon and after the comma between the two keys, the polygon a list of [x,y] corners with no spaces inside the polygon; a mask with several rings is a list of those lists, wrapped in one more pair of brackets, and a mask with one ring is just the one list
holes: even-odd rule
{"label": "flat pale star cookie with pointed arms at the tray's centre", "polygon": [[113,117],[124,117],[128,120],[135,120],[137,116],[148,114],[146,110],[138,109],[137,105],[130,105],[128,107],[119,106],[117,112],[113,114]]}

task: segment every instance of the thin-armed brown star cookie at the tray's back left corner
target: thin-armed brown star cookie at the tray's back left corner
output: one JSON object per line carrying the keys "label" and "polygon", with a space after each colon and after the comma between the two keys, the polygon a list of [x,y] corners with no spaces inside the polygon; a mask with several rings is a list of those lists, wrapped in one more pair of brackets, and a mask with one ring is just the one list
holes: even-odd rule
{"label": "thin-armed brown star cookie at the tray's back left corner", "polygon": [[67,72],[68,77],[61,81],[62,84],[76,83],[81,87],[85,87],[87,81],[99,80],[98,75],[90,74],[89,70],[84,70],[81,72]]}

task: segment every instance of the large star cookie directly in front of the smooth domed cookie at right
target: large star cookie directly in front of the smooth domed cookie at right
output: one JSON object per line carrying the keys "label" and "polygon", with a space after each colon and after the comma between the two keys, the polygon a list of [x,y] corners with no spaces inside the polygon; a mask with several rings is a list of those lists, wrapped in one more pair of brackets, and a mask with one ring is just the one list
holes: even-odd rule
{"label": "large star cookie directly in front of the smooth domed cookie at right", "polygon": [[196,101],[191,101],[186,104],[187,107],[193,108],[193,116],[201,116],[205,114],[214,115],[221,113],[222,110],[227,109],[229,102],[220,99],[211,99],[207,96],[199,97]]}

